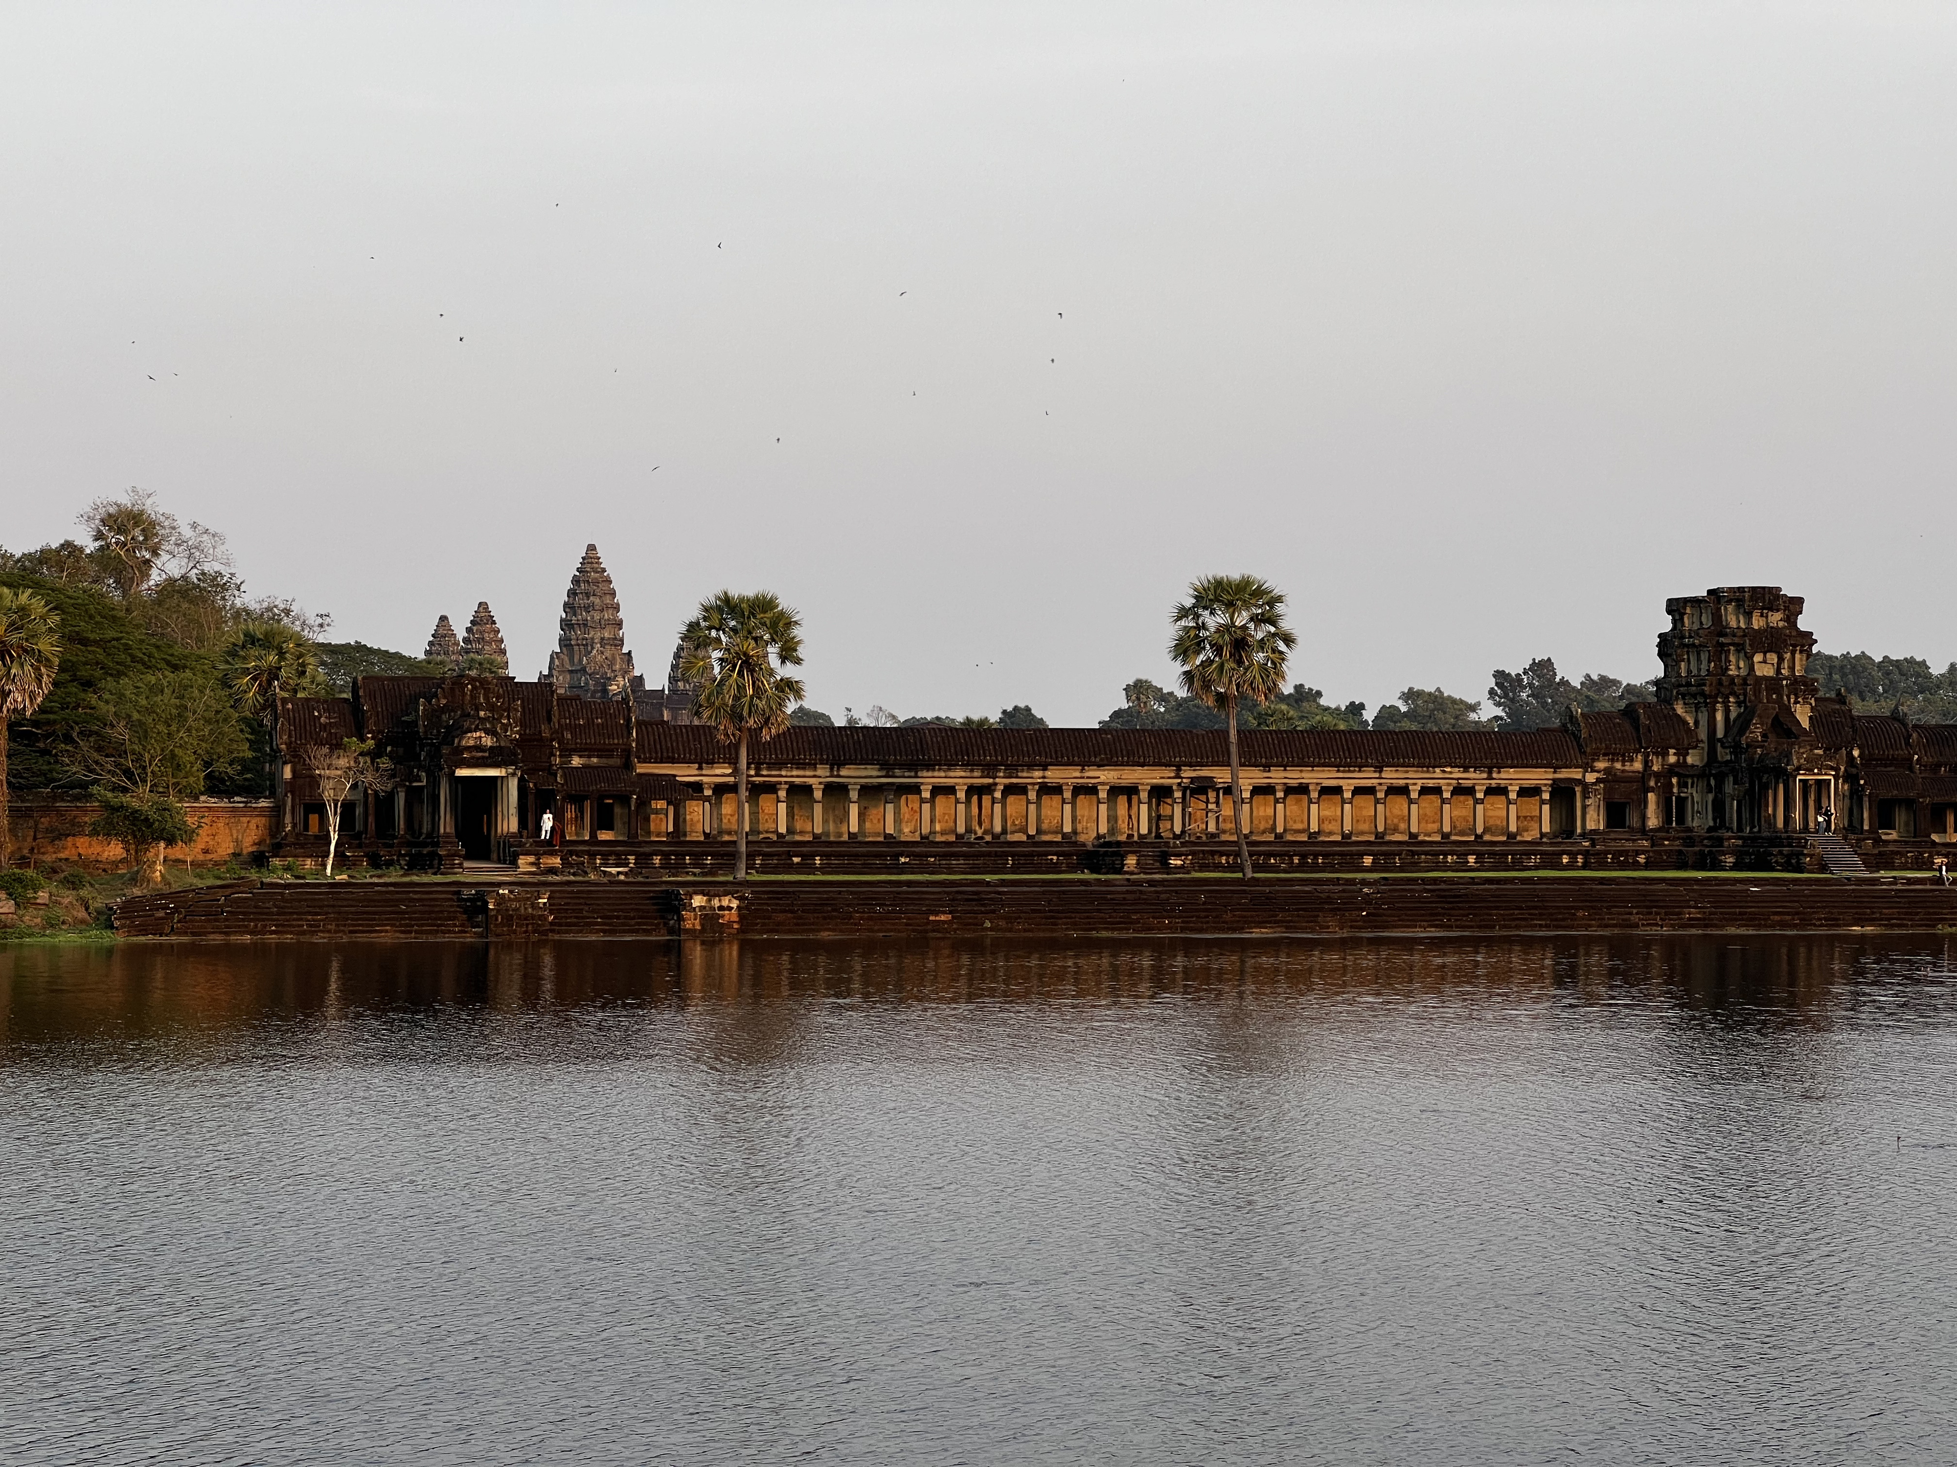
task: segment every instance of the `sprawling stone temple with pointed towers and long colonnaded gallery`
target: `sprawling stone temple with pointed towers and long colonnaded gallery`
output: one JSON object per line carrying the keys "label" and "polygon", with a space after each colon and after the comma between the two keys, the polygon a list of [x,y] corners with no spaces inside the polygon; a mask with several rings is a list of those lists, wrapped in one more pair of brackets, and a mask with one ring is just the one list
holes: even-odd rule
{"label": "sprawling stone temple with pointed towers and long colonnaded gallery", "polygon": [[[1957,726],[1822,696],[1800,610],[1779,587],[1667,600],[1656,700],[1571,710],[1554,728],[1247,732],[1258,859],[1802,868],[1818,865],[1832,827],[1883,867],[1928,865],[1957,839]],[[732,745],[687,706],[683,689],[648,690],[634,671],[611,577],[589,548],[534,683],[362,677],[346,698],[286,700],[286,833],[274,855],[323,853],[309,759],[358,735],[401,782],[354,802],[342,831],[354,859],[710,865],[734,833]],[[1235,843],[1223,734],[1196,730],[791,728],[753,751],[748,816],[763,868],[894,870],[930,865],[932,843],[998,867],[1037,855],[1043,868],[1094,868],[1110,853],[1125,868],[1204,867]]]}

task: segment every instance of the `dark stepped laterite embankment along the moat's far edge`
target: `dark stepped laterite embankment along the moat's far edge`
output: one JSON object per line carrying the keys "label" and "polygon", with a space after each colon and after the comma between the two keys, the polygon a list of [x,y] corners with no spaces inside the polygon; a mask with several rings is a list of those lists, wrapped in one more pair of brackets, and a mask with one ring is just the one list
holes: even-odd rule
{"label": "dark stepped laterite embankment along the moat's far edge", "polygon": [[125,937],[1939,931],[1957,890],[1789,876],[231,882],[129,898]]}

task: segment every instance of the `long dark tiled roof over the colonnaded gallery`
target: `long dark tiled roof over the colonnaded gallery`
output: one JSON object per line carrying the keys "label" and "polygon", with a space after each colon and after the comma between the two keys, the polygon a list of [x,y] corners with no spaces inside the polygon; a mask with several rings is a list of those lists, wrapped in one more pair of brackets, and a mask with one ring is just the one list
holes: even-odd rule
{"label": "long dark tiled roof over the colonnaded gallery", "polygon": [[[1528,734],[1249,732],[1239,737],[1247,769],[1577,769],[1583,753],[1560,728]],[[703,724],[640,724],[638,759],[650,765],[714,765],[734,745]],[[783,765],[894,765],[961,769],[1229,765],[1215,730],[1129,728],[791,728],[759,745],[755,769]]]}

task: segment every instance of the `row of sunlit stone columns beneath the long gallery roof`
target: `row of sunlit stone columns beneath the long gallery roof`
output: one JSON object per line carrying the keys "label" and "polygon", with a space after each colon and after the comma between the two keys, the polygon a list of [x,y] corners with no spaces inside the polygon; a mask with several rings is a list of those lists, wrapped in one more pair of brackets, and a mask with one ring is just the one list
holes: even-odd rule
{"label": "row of sunlit stone columns beneath the long gallery roof", "polygon": [[[681,818],[669,829],[687,839],[732,839],[734,782],[699,784],[701,818]],[[1573,800],[1575,829],[1591,823],[1589,800]],[[1245,814],[1256,841],[1515,841],[1552,831],[1550,794],[1556,780],[1305,780],[1297,784],[1245,784]],[[1115,839],[1235,839],[1229,784],[1221,780],[753,780],[750,839],[924,839],[924,841],[1096,841]],[[949,794],[949,814],[939,798]],[[1489,796],[1493,818],[1489,814]],[[773,796],[773,810],[767,810]],[[1057,798],[1055,798],[1057,796]],[[1389,798],[1405,800],[1405,820],[1388,820]],[[1438,796],[1436,829],[1423,829],[1421,796]],[[1466,796],[1466,798],[1464,798]],[[800,798],[810,802],[810,822],[791,818]],[[1470,806],[1472,798],[1472,806]],[[916,802],[916,827],[904,806]],[[1024,800],[1024,818],[1008,822],[1012,800]],[[1258,827],[1252,802],[1268,802],[1268,829]],[[1057,818],[1043,806],[1057,804]],[[1366,806],[1370,804],[1370,810]],[[1456,820],[1456,806],[1462,820]],[[1301,806],[1301,810],[1294,810]],[[1358,822],[1354,808],[1358,806]],[[1525,820],[1525,812],[1534,820]],[[800,814],[796,810],[796,814]],[[1292,816],[1301,814],[1296,822]],[[771,816],[771,818],[769,818]],[[1464,825],[1464,820],[1468,822]]]}

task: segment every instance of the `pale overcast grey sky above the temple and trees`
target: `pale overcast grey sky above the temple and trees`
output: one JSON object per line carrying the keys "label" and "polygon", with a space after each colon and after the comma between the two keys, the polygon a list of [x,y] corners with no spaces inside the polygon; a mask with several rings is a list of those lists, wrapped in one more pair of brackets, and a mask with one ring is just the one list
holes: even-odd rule
{"label": "pale overcast grey sky above the temple and trees", "polygon": [[1947,2],[0,18],[8,548],[143,485],[532,675],[595,540],[838,718],[1094,722],[1237,569],[1341,702],[1716,583],[1957,657]]}

